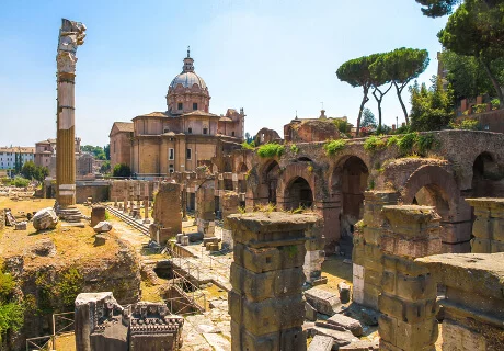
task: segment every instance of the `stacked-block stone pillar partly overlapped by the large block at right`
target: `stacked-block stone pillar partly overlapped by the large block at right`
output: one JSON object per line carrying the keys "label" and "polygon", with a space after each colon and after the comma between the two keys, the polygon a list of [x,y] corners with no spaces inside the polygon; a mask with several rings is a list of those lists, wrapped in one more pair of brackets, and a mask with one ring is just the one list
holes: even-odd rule
{"label": "stacked-block stone pillar partly overlapped by the large block at right", "polygon": [[435,350],[437,284],[416,258],[442,252],[439,215],[429,206],[383,206],[380,350]]}

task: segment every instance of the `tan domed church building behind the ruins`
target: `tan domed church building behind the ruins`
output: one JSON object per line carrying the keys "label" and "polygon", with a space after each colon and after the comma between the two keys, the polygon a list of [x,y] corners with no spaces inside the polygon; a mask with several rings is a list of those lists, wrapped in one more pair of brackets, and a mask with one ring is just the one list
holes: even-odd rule
{"label": "tan domed church building behind the ruins", "polygon": [[221,115],[209,112],[208,87],[194,71],[188,50],[165,99],[167,111],[133,118],[133,135],[130,125],[114,123],[110,133],[112,167],[127,163],[139,177],[195,171],[217,156],[221,140],[243,141],[243,109],[228,109]]}

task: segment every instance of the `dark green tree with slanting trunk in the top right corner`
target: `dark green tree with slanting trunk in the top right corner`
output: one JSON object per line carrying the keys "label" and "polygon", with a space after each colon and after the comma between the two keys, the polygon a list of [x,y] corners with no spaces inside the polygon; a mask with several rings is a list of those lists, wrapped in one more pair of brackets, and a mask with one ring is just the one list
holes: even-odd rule
{"label": "dark green tree with slanting trunk in the top right corner", "polygon": [[504,57],[504,0],[467,0],[448,19],[448,23],[438,34],[443,46],[458,55],[477,58],[495,90],[504,107],[502,83],[492,69],[495,61]]}

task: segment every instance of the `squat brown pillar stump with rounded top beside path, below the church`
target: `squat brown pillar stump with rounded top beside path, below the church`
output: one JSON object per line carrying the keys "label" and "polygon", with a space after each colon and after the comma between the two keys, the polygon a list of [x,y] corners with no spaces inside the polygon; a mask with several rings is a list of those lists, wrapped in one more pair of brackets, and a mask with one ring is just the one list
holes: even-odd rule
{"label": "squat brown pillar stump with rounded top beside path, below the church", "polygon": [[182,233],[181,184],[162,182],[156,193],[152,217],[159,225],[159,244]]}

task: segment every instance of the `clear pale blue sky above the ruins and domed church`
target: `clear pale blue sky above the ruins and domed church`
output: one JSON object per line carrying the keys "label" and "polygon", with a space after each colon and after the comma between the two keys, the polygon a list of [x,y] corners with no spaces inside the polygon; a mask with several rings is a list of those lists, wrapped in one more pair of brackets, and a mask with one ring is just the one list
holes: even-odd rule
{"label": "clear pale blue sky above the ruins and domed church", "polygon": [[[245,131],[283,135],[294,118],[356,121],[362,90],[341,82],[344,61],[397,47],[426,48],[437,71],[444,19],[414,0],[0,1],[0,146],[56,135],[56,45],[60,19],[88,26],[78,49],[76,127],[83,144],[105,145],[114,121],[165,111],[168,86],[186,46],[209,87],[210,112],[243,107]],[[404,101],[409,93],[403,92]],[[376,102],[367,107],[376,113]],[[385,123],[403,120],[391,91]]]}

